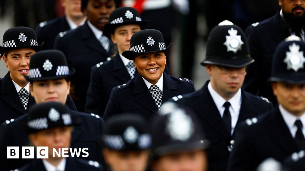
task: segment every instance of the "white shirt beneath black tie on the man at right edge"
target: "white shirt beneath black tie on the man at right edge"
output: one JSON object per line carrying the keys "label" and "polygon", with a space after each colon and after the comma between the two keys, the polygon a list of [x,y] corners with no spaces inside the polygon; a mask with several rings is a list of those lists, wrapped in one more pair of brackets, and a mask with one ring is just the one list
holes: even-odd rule
{"label": "white shirt beneath black tie on the man at right edge", "polygon": [[290,134],[292,135],[292,138],[296,137],[296,131],[298,128],[295,125],[296,120],[300,120],[303,124],[302,132],[303,135],[305,136],[305,113],[301,117],[296,117],[290,112],[288,112],[282,105],[278,105],[278,108],[280,110],[280,113],[290,131]]}

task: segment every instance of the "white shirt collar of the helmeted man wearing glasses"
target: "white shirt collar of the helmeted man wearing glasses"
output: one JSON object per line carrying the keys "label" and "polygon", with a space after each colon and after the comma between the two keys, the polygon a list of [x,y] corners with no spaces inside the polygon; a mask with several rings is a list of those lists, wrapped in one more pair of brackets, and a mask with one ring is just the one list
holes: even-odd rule
{"label": "white shirt collar of the helmeted man wearing glasses", "polygon": [[[208,84],[208,90],[212,96],[212,99],[217,106],[218,111],[220,111],[221,107],[223,107],[226,100],[221,97],[212,87],[211,82]],[[228,102],[231,103],[231,107],[235,113],[237,113],[240,109],[240,106],[242,104],[242,91],[239,89],[237,93],[228,100]]]}

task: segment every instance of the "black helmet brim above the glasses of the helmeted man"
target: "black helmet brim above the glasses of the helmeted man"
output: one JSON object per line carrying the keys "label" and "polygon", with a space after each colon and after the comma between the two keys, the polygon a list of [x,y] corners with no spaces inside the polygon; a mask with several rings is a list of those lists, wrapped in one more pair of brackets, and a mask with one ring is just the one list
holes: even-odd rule
{"label": "black helmet brim above the glasses of the helmeted man", "polygon": [[205,66],[206,64],[220,65],[232,68],[242,68],[254,62],[254,59],[250,55],[240,56],[236,58],[223,58],[223,57],[213,57],[206,58],[200,64]]}

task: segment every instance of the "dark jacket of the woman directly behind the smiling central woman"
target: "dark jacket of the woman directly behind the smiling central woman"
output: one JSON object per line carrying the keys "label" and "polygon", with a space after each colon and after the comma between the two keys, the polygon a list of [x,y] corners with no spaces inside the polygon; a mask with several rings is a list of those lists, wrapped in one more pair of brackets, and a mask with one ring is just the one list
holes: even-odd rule
{"label": "dark jacket of the woman directly behind the smiling central woman", "polygon": [[[134,76],[137,75],[138,70],[136,69]],[[130,79],[130,75],[118,53],[112,60],[93,66],[85,112],[103,116],[113,87],[122,85]]]}

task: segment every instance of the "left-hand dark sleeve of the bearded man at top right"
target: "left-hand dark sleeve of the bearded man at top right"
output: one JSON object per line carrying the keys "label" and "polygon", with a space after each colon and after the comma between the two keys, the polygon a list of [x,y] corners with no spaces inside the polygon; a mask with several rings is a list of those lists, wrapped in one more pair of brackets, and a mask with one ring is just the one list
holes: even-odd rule
{"label": "left-hand dark sleeve of the bearded man at top right", "polygon": [[257,37],[254,32],[254,26],[249,26],[246,29],[246,36],[247,41],[249,44],[249,50],[251,58],[253,58],[255,61],[250,64],[247,68],[247,75],[245,77],[245,82],[243,84],[243,88],[245,91],[250,92],[254,95],[257,94],[258,91],[258,77],[259,77],[259,63],[260,63],[260,55],[258,51],[258,44],[257,44]]}

